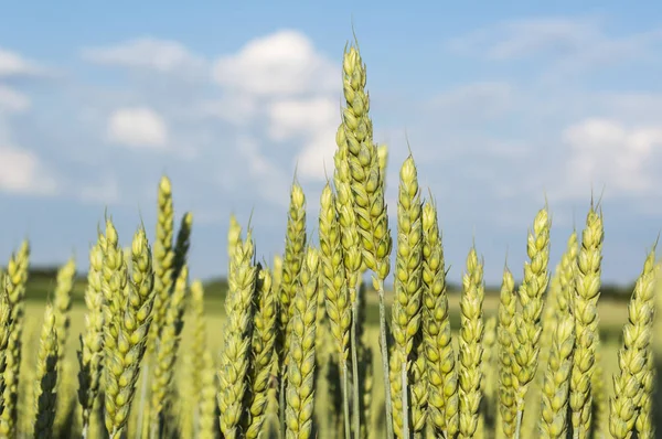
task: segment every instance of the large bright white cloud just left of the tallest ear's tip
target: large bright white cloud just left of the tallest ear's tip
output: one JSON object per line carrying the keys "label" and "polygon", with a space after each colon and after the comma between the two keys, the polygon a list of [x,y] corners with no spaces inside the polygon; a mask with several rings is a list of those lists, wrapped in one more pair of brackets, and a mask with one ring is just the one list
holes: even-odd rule
{"label": "large bright white cloud just left of the tallest ear's tip", "polygon": [[291,96],[335,89],[340,71],[302,33],[285,30],[248,42],[216,61],[221,86],[258,96]]}

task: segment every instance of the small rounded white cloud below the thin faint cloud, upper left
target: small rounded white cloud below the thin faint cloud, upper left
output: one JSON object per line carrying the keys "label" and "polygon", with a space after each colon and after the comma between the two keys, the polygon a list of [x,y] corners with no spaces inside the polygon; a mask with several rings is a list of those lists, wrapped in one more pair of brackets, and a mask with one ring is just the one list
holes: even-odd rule
{"label": "small rounded white cloud below the thin faint cloud, upper left", "polygon": [[162,148],[168,142],[168,127],[151,108],[131,107],[115,110],[108,118],[108,138],[136,148]]}

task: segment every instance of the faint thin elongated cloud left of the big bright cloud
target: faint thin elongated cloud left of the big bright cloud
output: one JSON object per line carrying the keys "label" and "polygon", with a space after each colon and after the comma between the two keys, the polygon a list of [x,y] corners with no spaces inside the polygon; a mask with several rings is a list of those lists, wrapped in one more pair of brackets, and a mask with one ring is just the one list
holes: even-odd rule
{"label": "faint thin elongated cloud left of the big bright cloud", "polygon": [[108,47],[84,49],[83,57],[93,63],[161,73],[199,73],[206,62],[170,40],[143,38]]}

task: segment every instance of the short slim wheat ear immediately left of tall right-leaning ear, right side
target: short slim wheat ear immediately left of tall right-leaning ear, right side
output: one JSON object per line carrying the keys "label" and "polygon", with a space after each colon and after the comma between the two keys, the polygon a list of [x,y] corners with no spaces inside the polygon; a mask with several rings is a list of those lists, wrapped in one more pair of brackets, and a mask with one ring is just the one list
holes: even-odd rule
{"label": "short slim wheat ear immediately left of tall right-leaning ear, right side", "polygon": [[508,267],[503,268],[501,293],[499,302],[499,324],[496,340],[499,343],[499,414],[503,433],[512,438],[515,435],[515,418],[517,407],[515,404],[516,376],[515,365],[515,312],[517,297],[515,295],[515,280]]}

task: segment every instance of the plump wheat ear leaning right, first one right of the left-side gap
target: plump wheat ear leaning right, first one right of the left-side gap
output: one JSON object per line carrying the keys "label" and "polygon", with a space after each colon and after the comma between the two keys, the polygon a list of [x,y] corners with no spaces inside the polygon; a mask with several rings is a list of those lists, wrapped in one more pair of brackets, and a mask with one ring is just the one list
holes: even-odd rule
{"label": "plump wheat ear leaning right, first one right of the left-side gap", "polygon": [[257,267],[253,266],[253,232],[237,245],[232,257],[228,291],[225,300],[225,343],[221,356],[218,406],[221,431],[226,439],[244,436],[239,421],[246,410],[247,374],[250,362],[253,331],[253,296]]}

